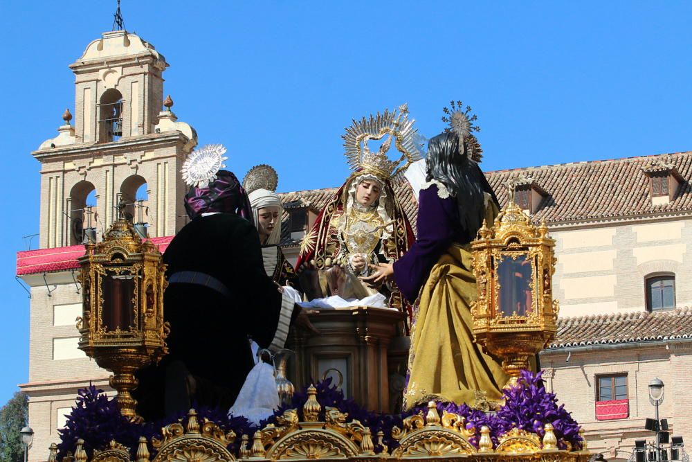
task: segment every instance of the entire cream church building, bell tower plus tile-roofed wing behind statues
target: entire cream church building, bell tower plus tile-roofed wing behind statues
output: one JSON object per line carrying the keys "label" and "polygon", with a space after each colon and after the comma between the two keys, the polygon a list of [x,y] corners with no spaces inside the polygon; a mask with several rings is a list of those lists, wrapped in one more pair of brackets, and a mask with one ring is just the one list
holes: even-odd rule
{"label": "entire cream church building, bell tower plus tile-roofed wing behind statues", "polygon": [[[197,134],[163,99],[167,64],[152,44],[104,33],[71,64],[75,121],[33,156],[41,163],[40,248],[19,252],[30,287],[29,396],[35,430],[30,461],[57,441],[77,390],[108,373],[77,348],[81,314],[75,272],[82,242],[98,239],[120,202],[161,249],[185,224],[179,171]],[[165,106],[165,109],[163,108]],[[163,109],[163,110],[161,110]],[[338,155],[335,153],[335,156]],[[257,163],[266,159],[257,159]],[[541,358],[547,386],[586,429],[593,450],[626,459],[650,438],[646,386],[666,383],[661,414],[673,434],[692,438],[686,373],[692,368],[692,152],[489,172],[501,202],[505,184],[556,239],[554,296],[560,330]],[[415,226],[406,183],[395,191]],[[300,240],[336,188],[282,194],[284,254]],[[687,252],[691,249],[691,253]]]}

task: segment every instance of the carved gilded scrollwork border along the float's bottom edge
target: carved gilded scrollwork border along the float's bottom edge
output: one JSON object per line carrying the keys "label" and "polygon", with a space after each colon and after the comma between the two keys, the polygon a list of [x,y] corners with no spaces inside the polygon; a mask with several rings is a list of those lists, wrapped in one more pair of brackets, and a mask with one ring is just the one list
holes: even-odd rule
{"label": "carved gilded scrollwork border along the float's bottom edge", "polygon": [[[308,401],[310,401],[308,399]],[[312,403],[312,411],[319,413]],[[306,419],[307,420],[307,419]],[[325,409],[325,421],[299,421],[296,409],[284,411],[275,425],[267,425],[252,436],[244,434],[239,447],[243,461],[278,462],[307,461],[311,459],[342,460],[349,462],[375,462],[385,460],[440,461],[466,459],[468,462],[588,462],[588,450],[559,450],[552,425],[546,424],[545,434],[520,429],[500,436],[493,447],[490,428],[480,428],[478,447],[469,438],[476,435],[473,428],[466,429],[463,416],[444,411],[439,416],[434,402],[428,403],[428,411],[422,411],[403,420],[403,429],[394,427],[391,436],[399,441],[399,447],[390,450],[383,445],[383,432],[377,432],[380,446],[375,454],[370,428],[358,420],[348,420],[348,414],[334,407]],[[188,420],[172,423],[162,429],[161,440],[152,439],[158,451],[151,462],[235,462],[234,454],[227,447],[235,442],[233,432],[224,432],[217,424],[197,419],[197,412],[190,409]],[[252,441],[251,441],[252,439]],[[55,460],[57,446],[51,446],[51,457]],[[136,462],[149,462],[147,439],[138,443]],[[87,459],[84,441],[79,440],[75,454],[65,456],[61,462],[131,462],[129,450],[112,441],[105,450],[95,451]]]}

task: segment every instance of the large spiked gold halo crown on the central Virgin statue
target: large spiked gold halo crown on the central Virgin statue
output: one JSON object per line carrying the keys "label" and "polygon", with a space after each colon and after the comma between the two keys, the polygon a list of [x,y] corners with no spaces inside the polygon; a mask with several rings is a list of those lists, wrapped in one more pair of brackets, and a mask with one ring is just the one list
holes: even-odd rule
{"label": "large spiked gold halo crown on the central Virgin statue", "polygon": [[[417,129],[413,127],[415,121],[409,120],[408,106],[401,105],[390,112],[385,109],[376,116],[363,117],[360,121],[355,119],[350,127],[347,127],[344,140],[345,156],[352,170],[363,169],[372,172],[378,177],[389,178],[406,170],[414,161],[421,158],[418,145],[415,143]],[[386,139],[385,139],[386,137]],[[385,139],[377,152],[368,148],[370,141]],[[388,158],[388,151],[394,146],[401,153],[401,157],[395,161]]]}

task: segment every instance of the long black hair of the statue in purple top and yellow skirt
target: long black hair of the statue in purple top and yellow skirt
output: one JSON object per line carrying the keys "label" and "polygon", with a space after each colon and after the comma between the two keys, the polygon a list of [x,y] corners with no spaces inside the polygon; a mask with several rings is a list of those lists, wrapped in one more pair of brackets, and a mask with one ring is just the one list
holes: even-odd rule
{"label": "long black hair of the statue in purple top and yellow skirt", "polygon": [[459,223],[468,242],[475,239],[485,217],[488,192],[497,202],[493,190],[478,164],[466,152],[459,152],[459,137],[443,132],[428,142],[426,181],[437,180],[455,197]]}

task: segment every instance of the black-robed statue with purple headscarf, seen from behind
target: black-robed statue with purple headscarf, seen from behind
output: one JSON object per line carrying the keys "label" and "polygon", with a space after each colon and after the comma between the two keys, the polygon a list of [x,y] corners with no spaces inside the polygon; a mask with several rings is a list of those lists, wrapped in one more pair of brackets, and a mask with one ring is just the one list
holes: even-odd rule
{"label": "black-robed statue with purple headscarf, seen from behind", "polygon": [[[191,188],[186,206],[193,220],[163,255],[170,282],[163,300],[164,319],[170,323],[169,354],[138,373],[137,409],[146,420],[190,405],[229,409],[254,364],[248,337],[261,348],[282,348],[289,324],[300,312],[266,275],[257,229],[237,215],[240,209],[251,216],[247,197],[235,175],[230,179],[224,173],[233,175],[220,171],[206,188],[212,189],[206,196],[212,197],[210,203],[190,206],[190,197],[205,193],[205,188]],[[218,181],[232,180],[239,198],[224,198],[213,190]],[[229,207],[231,199],[235,203]]]}

